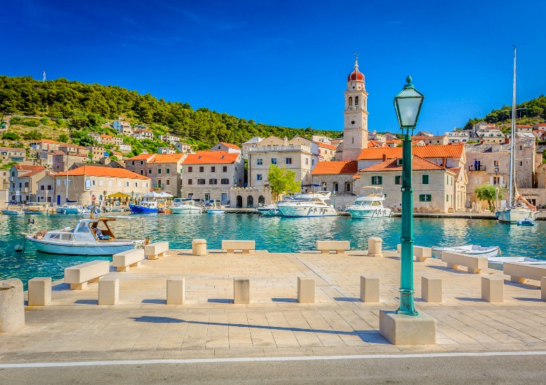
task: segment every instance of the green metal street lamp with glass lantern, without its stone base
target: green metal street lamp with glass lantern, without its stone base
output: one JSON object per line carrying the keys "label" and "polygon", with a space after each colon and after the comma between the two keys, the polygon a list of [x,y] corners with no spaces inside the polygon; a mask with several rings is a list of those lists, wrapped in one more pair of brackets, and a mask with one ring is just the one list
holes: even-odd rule
{"label": "green metal street lamp with glass lantern, without its stone base", "polygon": [[[407,316],[418,315],[413,303],[413,188],[412,188],[412,137],[417,125],[423,99],[421,92],[412,85],[412,77],[408,76],[407,84],[394,97],[394,109],[398,125],[404,134],[402,141],[402,237],[401,269],[400,269],[400,307],[396,314]],[[409,130],[412,130],[410,133]]]}

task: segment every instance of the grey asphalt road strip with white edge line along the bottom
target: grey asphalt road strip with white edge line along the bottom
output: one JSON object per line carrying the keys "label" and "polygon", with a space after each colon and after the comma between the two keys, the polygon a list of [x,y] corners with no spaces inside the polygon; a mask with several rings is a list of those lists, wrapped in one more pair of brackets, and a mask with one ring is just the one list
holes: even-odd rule
{"label": "grey asphalt road strip with white edge line along the bottom", "polygon": [[1,384],[545,384],[546,356],[0,368]]}

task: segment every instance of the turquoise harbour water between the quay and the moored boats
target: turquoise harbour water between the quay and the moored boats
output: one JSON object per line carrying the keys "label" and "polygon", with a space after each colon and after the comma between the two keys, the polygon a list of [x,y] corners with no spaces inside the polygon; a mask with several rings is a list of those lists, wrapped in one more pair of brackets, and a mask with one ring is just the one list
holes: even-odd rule
{"label": "turquoise harbour water between the quay and the moored boats", "polygon": [[[108,257],[78,257],[37,252],[27,243],[25,252],[16,253],[20,232],[27,232],[30,216],[0,216],[0,279],[19,278],[25,283],[34,276],[61,279],[64,267]],[[31,216],[35,230],[55,230],[73,226],[85,216],[52,214]],[[381,237],[383,248],[393,250],[400,243],[400,218],[353,220],[347,216],[327,218],[260,217],[255,214],[153,215],[133,214],[131,220],[112,223],[118,236],[151,237],[169,241],[171,248],[191,248],[192,239],[207,239],[208,248],[221,248],[222,239],[254,239],[256,248],[270,252],[314,250],[317,239],[351,241],[353,249],[367,249],[369,237]],[[546,250],[546,223],[534,227],[505,225],[497,221],[415,218],[414,239],[419,246],[480,244],[500,246],[504,256],[543,256]]]}

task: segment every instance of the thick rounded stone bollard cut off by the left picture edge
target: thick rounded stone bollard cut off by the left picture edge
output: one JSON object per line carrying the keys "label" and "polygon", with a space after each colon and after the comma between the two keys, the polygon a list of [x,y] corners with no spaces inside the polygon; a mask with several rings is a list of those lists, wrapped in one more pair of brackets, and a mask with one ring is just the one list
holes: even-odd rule
{"label": "thick rounded stone bollard cut off by the left picture edge", "polygon": [[25,295],[20,279],[0,281],[0,332],[16,332],[25,327]]}

